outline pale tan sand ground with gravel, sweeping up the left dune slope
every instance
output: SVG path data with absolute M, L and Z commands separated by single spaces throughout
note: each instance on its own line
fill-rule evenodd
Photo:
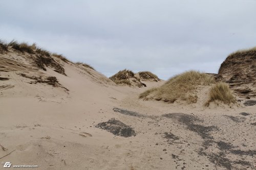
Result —
M 0 162 L 36 169 L 255 169 L 255 98 L 231 108 L 143 101 L 141 92 L 164 81 L 117 86 L 91 68 L 56 58 L 65 76 L 28 58 L 0 54 Z M 207 97 L 207 90 L 200 93 Z

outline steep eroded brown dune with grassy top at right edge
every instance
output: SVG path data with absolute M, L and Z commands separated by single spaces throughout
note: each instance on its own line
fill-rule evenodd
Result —
M 256 47 L 230 54 L 221 64 L 217 78 L 244 98 L 256 96 Z

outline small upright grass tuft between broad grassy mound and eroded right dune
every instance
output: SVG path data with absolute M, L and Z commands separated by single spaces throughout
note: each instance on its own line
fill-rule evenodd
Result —
M 205 105 L 208 106 L 210 102 L 214 101 L 221 101 L 224 104 L 229 105 L 231 103 L 236 103 L 236 98 L 229 90 L 228 85 L 221 82 L 210 88 L 209 100 Z

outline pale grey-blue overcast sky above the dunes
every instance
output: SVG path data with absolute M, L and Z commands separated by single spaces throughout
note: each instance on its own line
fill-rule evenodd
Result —
M 106 76 L 124 68 L 162 79 L 217 72 L 256 45 L 256 0 L 0 0 L 0 38 L 36 42 Z

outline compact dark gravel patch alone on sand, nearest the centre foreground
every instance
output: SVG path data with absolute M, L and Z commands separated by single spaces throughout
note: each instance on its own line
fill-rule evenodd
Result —
M 131 137 L 136 136 L 135 131 L 130 126 L 125 125 L 115 118 L 109 119 L 108 122 L 102 122 L 95 126 L 104 129 L 116 136 Z

